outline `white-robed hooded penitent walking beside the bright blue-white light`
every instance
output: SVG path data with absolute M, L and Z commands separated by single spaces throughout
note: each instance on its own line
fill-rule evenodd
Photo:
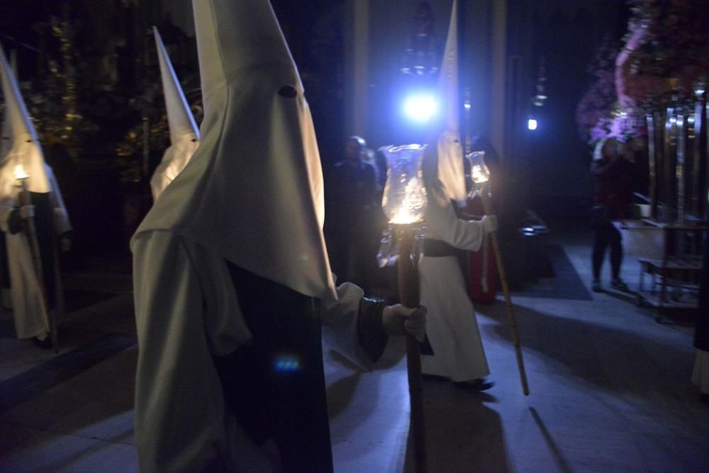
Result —
M 473 304 L 454 252 L 454 249 L 477 251 L 484 236 L 479 221 L 457 218 L 452 205 L 452 200 L 461 203 L 465 198 L 463 149 L 457 120 L 456 21 L 454 1 L 439 81 L 444 99 L 444 129 L 437 146 L 429 146 L 425 151 L 423 164 L 428 206 L 424 217 L 426 241 L 418 269 L 421 304 L 428 308 L 426 333 L 434 352 L 422 355 L 423 373 L 462 382 L 486 376 L 489 368 Z M 434 251 L 430 240 L 443 244 L 438 243 Z

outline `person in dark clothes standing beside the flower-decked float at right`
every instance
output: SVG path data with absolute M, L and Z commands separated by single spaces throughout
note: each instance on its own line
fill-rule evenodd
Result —
M 633 159 L 618 138 L 603 138 L 596 145 L 591 162 L 591 174 L 595 179 L 591 226 L 596 235 L 593 239 L 593 284 L 594 292 L 601 292 L 601 267 L 605 248 L 610 245 L 610 286 L 627 291 L 620 279 L 623 263 L 623 247 L 620 232 L 613 220 L 627 218 L 627 206 L 632 192 Z

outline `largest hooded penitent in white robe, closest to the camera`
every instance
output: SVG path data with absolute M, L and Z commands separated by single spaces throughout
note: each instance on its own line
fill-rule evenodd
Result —
M 267 0 L 193 8 L 201 144 L 131 241 L 140 469 L 328 471 L 320 323 L 352 360 L 371 352 L 361 289 L 330 274 L 308 104 Z

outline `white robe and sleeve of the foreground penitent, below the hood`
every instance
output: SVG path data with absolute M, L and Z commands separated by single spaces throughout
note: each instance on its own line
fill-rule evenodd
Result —
M 213 365 L 213 356 L 228 355 L 251 338 L 225 259 L 170 230 L 140 233 L 132 249 L 140 470 L 199 471 L 220 457 L 236 471 L 254 471 L 255 465 L 277 471 L 277 455 L 253 444 L 226 411 Z M 323 339 L 369 367 L 357 338 L 362 289 L 345 283 L 337 295 L 322 304 Z

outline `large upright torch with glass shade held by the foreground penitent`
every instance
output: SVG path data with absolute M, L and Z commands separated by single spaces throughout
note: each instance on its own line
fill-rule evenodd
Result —
M 421 162 L 425 146 L 403 145 L 384 148 L 386 184 L 381 206 L 389 223 L 395 228 L 398 241 L 398 290 L 401 304 L 419 306 L 418 267 L 413 254 L 416 229 L 423 223 L 426 210 L 426 189 Z M 421 398 L 421 354 L 418 340 L 406 335 L 406 367 L 411 399 L 411 431 L 417 471 L 425 471 L 425 430 L 423 399 Z

